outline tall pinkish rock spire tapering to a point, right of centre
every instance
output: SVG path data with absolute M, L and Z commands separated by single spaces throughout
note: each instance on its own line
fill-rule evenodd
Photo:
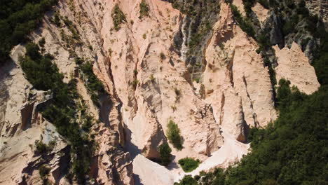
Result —
M 214 25 L 203 74 L 206 101 L 221 128 L 245 142 L 248 126 L 265 126 L 275 119 L 273 90 L 257 43 L 233 23 L 228 5 Z

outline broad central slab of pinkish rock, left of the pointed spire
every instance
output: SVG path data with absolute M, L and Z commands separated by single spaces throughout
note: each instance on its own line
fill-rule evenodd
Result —
M 128 21 L 118 32 L 110 32 L 110 39 L 104 39 L 104 48 L 112 50 L 111 71 L 123 103 L 124 122 L 132 142 L 146 157 L 158 158 L 157 147 L 165 140 L 166 125 L 172 119 L 182 130 L 182 153 L 203 158 L 219 149 L 222 140 L 212 112 L 206 110 L 205 103 L 194 95 L 183 77 L 184 62 L 170 51 L 172 36 L 179 29 L 177 18 L 181 16 L 168 2 L 146 2 L 150 16 L 139 19 L 140 1 L 120 1 L 127 20 L 134 23 Z M 110 11 L 113 6 L 109 5 Z M 108 29 L 112 27 L 111 19 L 106 25 Z M 160 58 L 160 53 L 165 59 Z M 178 98 L 176 88 L 181 91 Z

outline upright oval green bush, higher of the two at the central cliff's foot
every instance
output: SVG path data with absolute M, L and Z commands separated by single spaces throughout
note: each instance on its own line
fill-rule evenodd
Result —
M 172 120 L 168 123 L 168 130 L 166 130 L 169 141 L 175 146 L 176 149 L 182 150 L 182 137 L 180 136 L 180 129 L 178 125 Z

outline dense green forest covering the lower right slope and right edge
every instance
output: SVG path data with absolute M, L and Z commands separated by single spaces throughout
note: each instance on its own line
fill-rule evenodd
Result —
M 299 4 L 294 4 L 293 1 L 279 4 L 274 0 L 269 2 L 274 9 L 280 6 L 280 11 L 283 4 L 298 9 L 298 21 L 303 19 L 302 21 L 308 22 L 313 19 L 304 9 L 303 1 Z M 287 16 L 286 20 L 294 21 L 291 17 Z M 315 39 L 320 39 L 320 47 L 313 51 L 315 58 L 312 63 L 321 84 L 320 89 L 313 95 L 305 95 L 297 88 L 290 87 L 289 81 L 279 81 L 276 107 L 280 115 L 266 128 L 250 130 L 248 139 L 252 151 L 240 163 L 228 167 L 227 170 L 217 168 L 212 172 L 201 172 L 195 177 L 186 176 L 179 184 L 328 184 L 328 34 L 322 29 L 320 21 L 314 20 L 313 24 L 306 23 L 306 29 Z M 293 23 L 290 26 L 292 30 L 285 26 L 284 34 L 299 32 L 294 25 Z M 268 38 L 265 34 L 262 37 Z M 259 41 L 258 37 L 256 39 Z

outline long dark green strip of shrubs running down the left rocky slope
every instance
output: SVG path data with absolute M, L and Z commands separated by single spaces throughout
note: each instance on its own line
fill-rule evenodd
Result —
M 64 83 L 64 75 L 52 62 L 53 56 L 41 55 L 35 43 L 28 43 L 26 49 L 25 57 L 20 57 L 20 64 L 27 80 L 37 90 L 51 90 L 53 93 L 53 99 L 42 108 L 41 113 L 68 140 L 70 151 L 74 153 L 71 155 L 71 170 L 67 172 L 67 178 L 74 174 L 78 183 L 83 184 L 95 151 L 95 142 L 87 132 L 93 119 L 88 116 L 86 104 L 77 93 L 77 80 L 72 78 L 69 83 Z M 80 125 L 83 125 L 82 130 Z M 44 148 L 42 146 L 41 151 Z

